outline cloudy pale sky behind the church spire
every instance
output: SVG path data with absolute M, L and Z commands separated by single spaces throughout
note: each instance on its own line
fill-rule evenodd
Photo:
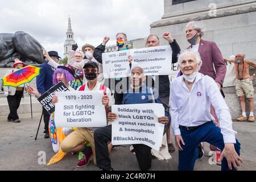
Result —
M 48 51 L 63 56 L 68 15 L 74 39 L 98 46 L 104 36 L 115 44 L 115 33 L 126 32 L 128 39 L 150 34 L 150 23 L 164 14 L 163 0 L 0 0 L 0 33 L 25 31 Z

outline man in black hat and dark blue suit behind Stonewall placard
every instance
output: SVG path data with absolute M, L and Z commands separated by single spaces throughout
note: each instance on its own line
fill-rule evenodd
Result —
M 59 59 L 61 57 L 58 55 L 56 51 L 49 51 L 48 55 L 56 64 L 59 63 Z M 38 92 L 40 94 L 43 94 L 53 86 L 52 75 L 55 69 L 51 67 L 49 64 L 47 64 L 48 61 L 40 65 L 42 69 L 40 71 L 40 75 L 36 77 L 36 88 L 38 89 Z M 44 138 L 49 138 L 48 123 L 49 123 L 50 115 L 47 112 L 47 110 L 44 109 L 44 107 L 43 107 L 43 115 L 44 115 L 44 133 L 45 133 Z

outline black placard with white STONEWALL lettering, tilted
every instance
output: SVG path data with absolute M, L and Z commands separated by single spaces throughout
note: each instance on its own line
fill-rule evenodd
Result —
M 44 109 L 48 111 L 49 114 L 52 114 L 55 111 L 55 105 L 52 104 L 52 98 L 56 92 L 65 92 L 69 91 L 68 87 L 64 84 L 63 81 L 57 83 L 52 86 L 49 90 L 47 90 L 42 96 L 38 98 L 38 101 Z

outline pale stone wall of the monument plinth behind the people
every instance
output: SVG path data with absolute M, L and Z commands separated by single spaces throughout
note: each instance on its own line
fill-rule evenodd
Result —
M 210 10 L 215 5 L 216 16 L 212 16 Z M 178 5 L 172 5 L 172 0 L 164 0 L 164 15 L 151 24 L 150 32 L 159 36 L 161 45 L 167 45 L 162 34 L 169 31 L 180 48 L 185 49 L 189 46 L 185 25 L 191 20 L 204 24 L 203 39 L 216 42 L 224 57 L 245 52 L 246 59 L 256 61 L 256 0 L 197 0 Z M 254 69 L 250 70 L 251 74 L 253 72 Z M 254 90 L 255 83 L 254 78 Z M 224 88 L 224 92 L 232 117 L 236 118 L 241 113 L 236 89 L 232 86 Z

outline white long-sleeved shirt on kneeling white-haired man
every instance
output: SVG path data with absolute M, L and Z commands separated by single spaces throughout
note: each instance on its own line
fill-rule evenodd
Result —
M 230 111 L 213 78 L 197 73 L 191 92 L 185 85 L 183 76 L 171 82 L 170 104 L 172 130 L 180 135 L 179 125 L 199 126 L 214 118 L 210 114 L 213 105 L 220 121 L 224 143 L 236 143 L 236 131 L 232 129 Z

